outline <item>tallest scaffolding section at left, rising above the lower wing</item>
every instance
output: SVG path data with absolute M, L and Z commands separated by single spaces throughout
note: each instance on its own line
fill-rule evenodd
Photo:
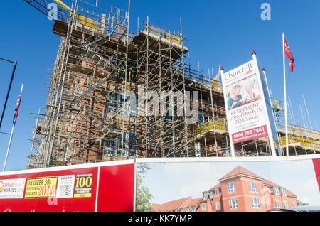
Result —
M 126 107 L 127 92 L 137 95 L 139 88 L 144 97 L 150 90 L 186 94 L 188 48 L 182 34 L 157 28 L 149 19 L 137 35 L 130 33 L 129 11 L 104 1 L 73 1 L 69 11 L 53 27 L 61 38 L 38 122 L 41 138 L 33 137 L 33 167 L 188 156 L 193 139 L 186 115 L 137 114 L 147 99 L 136 111 Z

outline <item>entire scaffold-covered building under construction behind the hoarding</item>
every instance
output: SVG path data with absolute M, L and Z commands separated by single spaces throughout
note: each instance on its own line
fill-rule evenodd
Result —
M 25 1 L 48 13 L 43 1 Z M 166 31 L 146 18 L 142 29 L 132 33 L 129 8 L 100 0 L 74 0 L 70 7 L 56 2 L 60 6 L 53 33 L 60 36 L 60 45 L 46 108 L 36 120 L 28 168 L 138 157 L 230 156 L 219 74 L 191 68 L 182 31 Z M 161 111 L 150 99 L 163 91 L 183 94 L 174 104 L 166 97 L 156 100 L 174 114 L 146 114 Z M 198 93 L 193 123 L 186 114 L 192 107 L 187 93 Z M 144 98 L 133 102 L 129 94 Z M 137 107 L 128 108 L 129 103 Z M 281 104 L 274 103 L 283 147 Z M 179 106 L 182 114 L 177 114 Z M 291 124 L 289 154 L 319 153 L 319 131 Z M 271 156 L 264 138 L 236 144 L 235 150 L 236 156 Z

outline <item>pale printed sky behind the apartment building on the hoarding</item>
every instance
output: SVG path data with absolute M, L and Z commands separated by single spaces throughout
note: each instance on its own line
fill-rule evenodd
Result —
M 148 163 L 151 167 L 144 185 L 161 204 L 179 198 L 201 198 L 202 192 L 219 183 L 218 179 L 242 166 L 252 173 L 283 186 L 310 205 L 320 205 L 314 165 L 303 161 Z

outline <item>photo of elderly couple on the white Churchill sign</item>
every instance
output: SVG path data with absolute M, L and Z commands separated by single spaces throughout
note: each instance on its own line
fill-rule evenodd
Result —
M 261 99 L 256 75 L 226 87 L 226 91 L 229 110 Z

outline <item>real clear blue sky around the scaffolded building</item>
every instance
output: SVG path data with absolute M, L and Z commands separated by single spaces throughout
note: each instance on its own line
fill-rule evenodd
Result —
M 91 0 L 88 0 L 91 1 Z M 107 0 L 105 0 L 107 1 Z M 71 0 L 65 0 L 70 5 Z M 110 0 L 109 4 L 128 8 L 128 1 Z M 262 21 L 262 3 L 271 6 L 271 21 Z M 39 107 L 46 106 L 49 82 L 45 75 L 53 68 L 59 37 L 52 33 L 53 21 L 22 0 L 1 1 L 0 58 L 17 60 L 18 66 L 0 131 L 10 133 L 14 106 L 21 83 L 23 89 L 21 111 L 16 123 L 7 170 L 26 167 L 34 124 Z M 257 53 L 260 66 L 267 70 L 272 95 L 284 99 L 282 75 L 282 31 L 294 55 L 296 70 L 291 74 L 287 66 L 287 93 L 292 99 L 294 116 L 301 122 L 299 102 L 306 97 L 312 123 L 320 124 L 319 50 L 320 1 L 292 0 L 216 0 L 216 1 L 131 1 L 130 30 L 137 32 L 149 16 L 156 26 L 187 35 L 191 65 L 198 62 L 204 72 L 221 64 L 225 71 L 251 60 L 251 50 Z M 142 28 L 142 26 L 140 27 Z M 4 104 L 12 65 L 0 60 L 0 107 Z M 319 129 L 319 128 L 317 128 Z M 0 163 L 4 163 L 9 136 L 0 134 Z

